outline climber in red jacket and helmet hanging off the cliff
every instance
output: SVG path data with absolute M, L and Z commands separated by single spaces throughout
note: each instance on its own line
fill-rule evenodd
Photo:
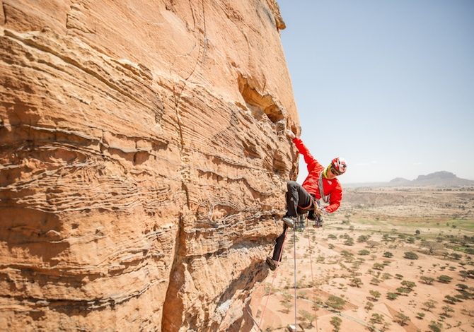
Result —
M 283 218 L 283 232 L 277 237 L 277 243 L 273 249 L 273 256 L 267 257 L 267 264 L 274 271 L 279 261 L 282 260 L 282 246 L 287 236 L 288 227 L 294 227 L 298 215 L 308 213 L 308 219 L 315 220 L 315 225 L 320 221 L 324 213 L 333 213 L 339 208 L 342 200 L 342 186 L 337 176 L 346 171 L 347 164 L 342 158 L 334 158 L 328 167 L 320 165 L 300 138 L 292 131 L 287 130 L 287 136 L 291 138 L 299 153 L 303 155 L 308 167 L 308 177 L 303 185 L 294 181 L 287 182 L 287 214 Z M 320 201 L 329 204 L 321 207 Z

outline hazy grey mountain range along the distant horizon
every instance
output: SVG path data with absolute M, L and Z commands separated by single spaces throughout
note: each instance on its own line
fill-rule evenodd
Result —
M 414 180 L 404 179 L 403 177 L 395 177 L 389 182 L 371 182 L 359 184 L 344 184 L 346 188 L 354 188 L 361 186 L 474 186 L 473 180 L 461 179 L 456 174 L 446 171 L 434 172 L 427 175 L 419 175 Z

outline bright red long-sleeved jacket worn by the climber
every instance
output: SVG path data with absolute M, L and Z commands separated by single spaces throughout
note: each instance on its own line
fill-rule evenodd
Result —
M 311 153 L 309 152 L 308 148 L 304 145 L 301 139 L 295 137 L 293 139 L 293 143 L 298 149 L 299 153 L 303 155 L 304 161 L 308 167 L 308 177 L 303 182 L 303 188 L 308 191 L 309 194 L 316 196 L 317 199 L 321 198 L 321 194 L 319 192 L 319 176 L 321 172 L 323 172 L 324 168 L 318 160 L 316 160 Z M 323 189 L 324 194 L 330 195 L 329 198 L 329 206 L 325 207 L 325 211 L 329 213 L 333 213 L 334 211 L 339 208 L 341 201 L 342 201 L 342 186 L 339 183 L 337 178 L 334 179 L 326 179 L 323 177 Z

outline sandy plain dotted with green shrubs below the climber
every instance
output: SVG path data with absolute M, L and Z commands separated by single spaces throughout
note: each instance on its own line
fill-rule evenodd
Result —
M 333 317 L 339 331 L 474 331 L 474 189 L 348 189 L 342 204 L 323 227 L 288 233 L 250 302 L 253 331 L 295 324 L 295 271 L 297 331 L 337 331 Z

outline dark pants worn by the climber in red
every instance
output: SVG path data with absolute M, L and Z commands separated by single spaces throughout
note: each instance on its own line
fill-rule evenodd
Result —
M 308 191 L 306 191 L 301 184 L 294 181 L 287 182 L 287 214 L 285 217 L 297 217 L 298 214 L 306 213 L 308 210 L 302 210 L 298 206 L 312 208 L 313 199 Z M 283 224 L 283 232 L 277 237 L 277 243 L 273 249 L 274 261 L 282 260 L 282 247 L 284 238 L 287 235 L 288 226 Z

